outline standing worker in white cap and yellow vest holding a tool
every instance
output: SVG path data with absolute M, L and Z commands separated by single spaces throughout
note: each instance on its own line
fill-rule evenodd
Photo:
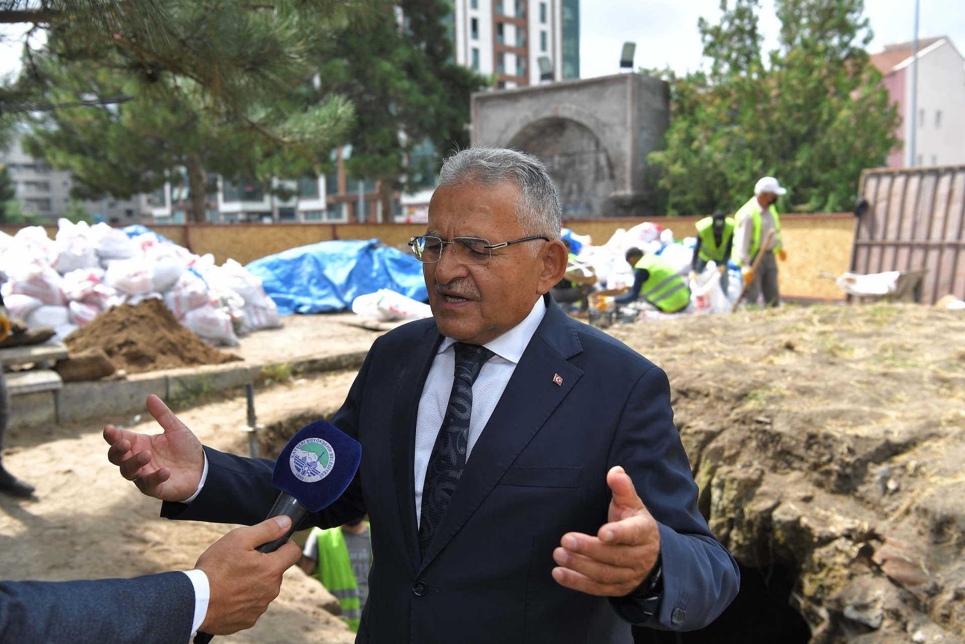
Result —
M 773 177 L 764 177 L 754 186 L 754 197 L 744 204 L 734 215 L 733 251 L 737 264 L 741 266 L 741 274 L 748 285 L 745 301 L 757 304 L 762 293 L 765 306 L 777 306 L 780 303 L 778 289 L 778 265 L 775 256 L 784 262 L 787 253 L 781 239 L 781 218 L 774 202 L 778 196 L 786 194 L 786 188 Z M 774 231 L 774 237 L 767 248 L 760 248 L 763 239 L 769 231 Z M 764 253 L 758 270 L 751 266 L 758 252 Z

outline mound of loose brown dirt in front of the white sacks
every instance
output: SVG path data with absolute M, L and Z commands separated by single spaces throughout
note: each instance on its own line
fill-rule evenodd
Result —
M 70 353 L 99 347 L 128 374 L 241 359 L 207 345 L 159 299 L 115 307 L 81 326 L 65 342 Z

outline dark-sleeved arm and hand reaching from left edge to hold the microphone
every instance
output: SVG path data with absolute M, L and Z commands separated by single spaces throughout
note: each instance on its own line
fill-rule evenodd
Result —
M 289 543 L 255 550 L 288 532 L 289 518 L 237 528 L 208 547 L 194 570 L 96 581 L 0 581 L 0 642 L 187 644 L 193 631 L 250 629 L 278 597 L 298 559 Z

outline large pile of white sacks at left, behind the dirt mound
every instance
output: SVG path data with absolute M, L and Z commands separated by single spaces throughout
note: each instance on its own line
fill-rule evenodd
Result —
M 121 304 L 163 299 L 175 317 L 212 345 L 280 326 L 262 280 L 234 260 L 214 266 L 152 232 L 128 237 L 99 223 L 58 221 L 54 239 L 41 226 L 0 232 L 0 288 L 7 310 L 28 327 L 51 326 L 57 339 Z M 144 229 L 147 231 L 147 229 Z

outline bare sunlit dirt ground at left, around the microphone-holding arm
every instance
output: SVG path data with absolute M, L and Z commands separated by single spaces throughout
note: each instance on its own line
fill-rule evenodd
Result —
M 369 332 L 366 332 L 369 333 Z M 292 417 L 330 415 L 345 400 L 353 372 L 276 384 L 256 394 L 259 422 L 269 430 Z M 207 445 L 247 454 L 244 397 L 185 410 L 180 418 Z M 12 430 L 4 461 L 37 486 L 35 501 L 0 495 L 0 571 L 5 579 L 128 577 L 189 570 L 231 525 L 169 521 L 160 501 L 142 495 L 107 462 L 105 422 L 155 433 L 147 414 L 51 428 Z M 314 579 L 291 569 L 282 594 L 252 630 L 225 642 L 320 644 L 354 641 L 320 606 L 332 600 Z

